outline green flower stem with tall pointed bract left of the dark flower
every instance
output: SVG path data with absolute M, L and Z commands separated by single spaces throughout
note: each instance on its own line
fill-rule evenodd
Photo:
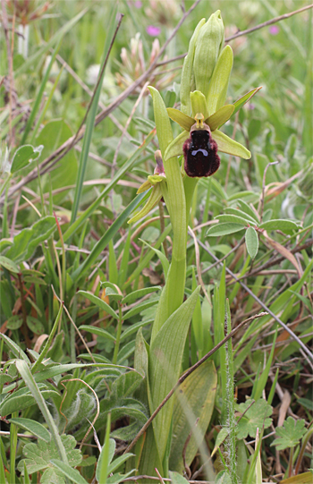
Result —
M 149 88 L 153 99 L 157 138 L 166 174 L 165 203 L 173 227 L 172 263 L 165 288 L 157 305 L 157 316 L 152 328 L 151 342 L 165 321 L 182 304 L 186 276 L 187 217 L 186 200 L 182 183 L 181 167 L 177 157 L 165 160 L 165 149 L 173 141 L 172 126 L 161 95 Z

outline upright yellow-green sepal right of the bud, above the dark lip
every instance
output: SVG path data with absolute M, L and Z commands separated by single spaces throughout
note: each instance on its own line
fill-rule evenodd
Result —
M 213 115 L 220 107 L 224 106 L 232 68 L 233 50 L 232 47 L 226 46 L 217 59 L 216 67 L 208 86 L 208 115 Z

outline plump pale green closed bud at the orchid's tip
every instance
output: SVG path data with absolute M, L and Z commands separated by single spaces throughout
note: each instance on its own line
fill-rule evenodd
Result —
M 196 89 L 207 98 L 208 84 L 224 46 L 224 23 L 219 10 L 213 13 L 199 31 L 193 61 Z

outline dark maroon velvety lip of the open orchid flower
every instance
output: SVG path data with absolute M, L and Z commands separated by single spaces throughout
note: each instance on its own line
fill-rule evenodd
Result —
M 217 143 L 212 139 L 206 123 L 195 123 L 190 129 L 190 138 L 183 143 L 184 169 L 188 176 L 201 178 L 216 173 L 220 166 Z

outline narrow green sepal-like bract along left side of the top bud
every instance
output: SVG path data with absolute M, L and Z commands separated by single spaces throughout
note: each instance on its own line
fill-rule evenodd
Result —
M 193 59 L 195 55 L 196 42 L 201 27 L 206 23 L 206 19 L 201 19 L 197 25 L 188 47 L 188 54 L 182 64 L 182 81 L 181 81 L 181 110 L 184 115 L 190 115 L 190 90 L 192 83 Z M 171 117 L 171 116 L 170 116 Z M 175 121 L 175 120 L 174 120 Z M 188 130 L 189 131 L 189 130 Z

